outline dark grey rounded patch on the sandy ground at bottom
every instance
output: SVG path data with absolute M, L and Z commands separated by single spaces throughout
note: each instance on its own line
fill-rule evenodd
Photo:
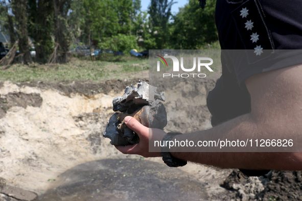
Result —
M 141 159 L 87 162 L 59 175 L 38 200 L 207 200 L 204 185 L 177 168 Z

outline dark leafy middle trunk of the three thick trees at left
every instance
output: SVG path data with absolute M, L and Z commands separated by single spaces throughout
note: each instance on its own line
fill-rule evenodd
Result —
M 41 63 L 54 51 L 53 47 L 53 1 L 28 0 L 29 35 L 34 39 L 36 60 Z

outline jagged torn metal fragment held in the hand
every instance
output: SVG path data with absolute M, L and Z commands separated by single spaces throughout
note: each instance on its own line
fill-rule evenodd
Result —
M 140 141 L 137 134 L 124 123 L 126 116 L 132 116 L 149 128 L 164 129 L 167 125 L 165 106 L 165 92 L 156 92 L 156 87 L 144 81 L 137 83 L 137 87 L 126 87 L 122 96 L 113 98 L 113 114 L 104 131 L 103 136 L 111 139 L 112 145 L 130 145 Z M 160 100 L 160 101 L 158 101 Z

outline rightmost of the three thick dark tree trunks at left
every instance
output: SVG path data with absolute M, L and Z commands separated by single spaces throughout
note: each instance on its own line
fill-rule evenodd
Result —
M 72 0 L 53 0 L 54 6 L 54 36 L 58 45 L 56 60 L 59 63 L 68 62 L 68 48 L 72 42 L 71 31 L 67 24 L 67 13 Z

